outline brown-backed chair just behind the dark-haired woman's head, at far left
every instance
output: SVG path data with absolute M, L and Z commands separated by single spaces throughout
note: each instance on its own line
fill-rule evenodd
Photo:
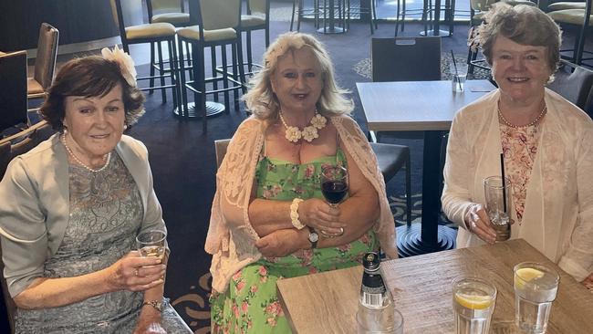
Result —
M 47 89 L 54 80 L 59 32 L 53 26 L 42 23 L 39 28 L 35 73 L 26 80 L 27 99 L 44 99 Z M 36 110 L 36 109 L 31 109 Z

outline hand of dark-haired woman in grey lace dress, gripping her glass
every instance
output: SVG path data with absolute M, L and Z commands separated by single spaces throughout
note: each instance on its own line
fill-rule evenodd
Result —
M 166 266 L 161 258 L 131 251 L 107 268 L 107 285 L 113 291 L 144 291 L 162 284 Z

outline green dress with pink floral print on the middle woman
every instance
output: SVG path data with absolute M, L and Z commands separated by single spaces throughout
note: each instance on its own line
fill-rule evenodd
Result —
M 261 157 L 255 178 L 257 197 L 292 201 L 294 198 L 323 198 L 321 168 L 327 164 L 346 165 L 344 152 L 304 164 Z M 365 252 L 378 251 L 379 241 L 369 230 L 359 240 L 346 245 L 300 250 L 289 256 L 261 258 L 245 266 L 231 278 L 223 294 L 210 297 L 213 333 L 291 333 L 276 296 L 276 281 L 349 266 L 356 266 Z

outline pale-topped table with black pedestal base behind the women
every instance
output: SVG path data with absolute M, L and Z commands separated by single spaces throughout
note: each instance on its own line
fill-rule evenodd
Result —
M 371 131 L 424 131 L 422 154 L 422 224 L 398 227 L 401 256 L 452 249 L 455 233 L 439 226 L 441 141 L 457 110 L 494 89 L 488 80 L 467 80 L 453 93 L 450 80 L 357 82 Z

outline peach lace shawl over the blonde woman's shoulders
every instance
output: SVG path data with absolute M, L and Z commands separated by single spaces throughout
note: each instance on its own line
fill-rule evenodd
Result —
M 346 151 L 379 193 L 380 218 L 373 228 L 383 252 L 390 258 L 396 258 L 395 225 L 377 158 L 354 120 L 346 116 L 330 120 L 338 130 Z M 234 133 L 216 173 L 216 193 L 205 250 L 213 255 L 210 267 L 213 290 L 221 293 L 228 287 L 234 273 L 261 257 L 255 247 L 259 236 L 249 222 L 248 206 L 255 167 L 264 144 L 263 130 L 262 120 L 254 117 L 244 120 Z

